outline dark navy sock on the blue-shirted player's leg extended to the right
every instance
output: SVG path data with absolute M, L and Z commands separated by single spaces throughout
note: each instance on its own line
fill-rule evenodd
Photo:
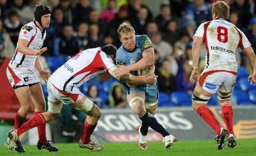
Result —
M 162 134 L 163 137 L 170 135 L 152 114 L 146 112 L 146 114 L 142 116 L 140 120 L 142 121 L 142 124 L 145 123 L 145 125 L 148 127 L 151 127 L 152 129 L 156 130 L 156 132 Z M 141 132 L 141 134 L 143 133 Z

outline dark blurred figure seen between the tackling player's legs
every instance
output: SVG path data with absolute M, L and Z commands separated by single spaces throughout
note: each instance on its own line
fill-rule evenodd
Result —
M 83 136 L 85 118 L 84 113 L 64 104 L 60 116 L 48 122 L 51 127 L 52 141 L 62 143 L 62 136 L 74 133 L 74 136 L 70 137 L 71 139 L 68 142 L 77 143 L 77 140 Z

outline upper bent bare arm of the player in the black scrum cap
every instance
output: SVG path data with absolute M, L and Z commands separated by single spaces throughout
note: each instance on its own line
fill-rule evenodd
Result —
M 47 51 L 47 47 L 44 47 L 38 51 L 33 51 L 32 49 L 29 49 L 28 43 L 29 43 L 28 40 L 19 39 L 18 51 L 26 55 L 40 55 L 43 52 Z

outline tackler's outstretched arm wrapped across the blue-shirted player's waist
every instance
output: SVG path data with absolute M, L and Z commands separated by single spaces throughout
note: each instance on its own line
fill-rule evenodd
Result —
M 131 84 L 155 84 L 156 83 L 156 75 L 140 75 L 140 76 L 135 76 L 132 75 L 131 73 L 125 74 L 122 77 L 118 77 L 115 75 L 115 69 L 117 67 L 113 66 L 112 68 L 109 68 L 108 72 L 109 74 L 113 75 L 118 81 L 121 82 L 126 82 L 126 83 L 131 83 Z

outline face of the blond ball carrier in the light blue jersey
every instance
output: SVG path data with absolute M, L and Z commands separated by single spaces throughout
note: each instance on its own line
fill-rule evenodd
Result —
M 135 48 L 135 35 L 134 33 L 129 32 L 120 36 L 120 41 L 123 43 L 124 48 L 127 51 L 132 51 Z

